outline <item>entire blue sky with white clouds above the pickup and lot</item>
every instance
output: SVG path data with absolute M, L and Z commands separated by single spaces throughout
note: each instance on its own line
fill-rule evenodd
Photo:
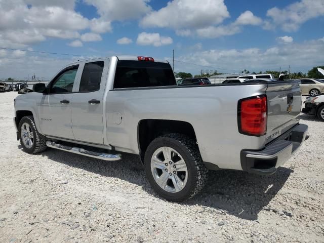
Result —
M 322 0 L 52 2 L 0 1 L 0 47 L 170 61 L 174 49 L 176 60 L 196 64 L 176 61 L 175 71 L 193 74 L 200 69 L 283 70 L 289 65 L 304 72 L 324 65 Z M 0 78 L 23 78 L 29 72 L 50 78 L 80 58 L 0 49 Z

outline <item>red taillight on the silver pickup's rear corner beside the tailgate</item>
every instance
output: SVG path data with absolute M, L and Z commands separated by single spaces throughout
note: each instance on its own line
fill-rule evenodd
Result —
M 263 136 L 267 132 L 267 97 L 254 96 L 238 101 L 238 131 L 250 136 Z

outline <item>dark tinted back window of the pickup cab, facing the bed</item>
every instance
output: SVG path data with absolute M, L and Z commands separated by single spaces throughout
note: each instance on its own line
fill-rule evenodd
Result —
M 117 62 L 114 89 L 176 85 L 169 63 L 127 60 Z

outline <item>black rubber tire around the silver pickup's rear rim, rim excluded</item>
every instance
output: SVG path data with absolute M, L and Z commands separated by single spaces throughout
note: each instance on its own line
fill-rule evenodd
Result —
M 161 188 L 154 180 L 151 171 L 153 153 L 161 147 L 171 147 L 178 151 L 186 163 L 188 179 L 186 185 L 179 192 L 168 192 Z M 146 176 L 154 191 L 170 201 L 184 201 L 196 195 L 207 182 L 208 170 L 201 159 L 196 141 L 182 134 L 171 133 L 154 139 L 145 152 L 144 157 Z

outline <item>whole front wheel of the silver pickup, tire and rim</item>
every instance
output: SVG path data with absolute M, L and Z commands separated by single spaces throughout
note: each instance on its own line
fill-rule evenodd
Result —
M 43 152 L 46 146 L 46 138 L 39 134 L 32 115 L 24 116 L 19 122 L 20 144 L 27 153 Z

